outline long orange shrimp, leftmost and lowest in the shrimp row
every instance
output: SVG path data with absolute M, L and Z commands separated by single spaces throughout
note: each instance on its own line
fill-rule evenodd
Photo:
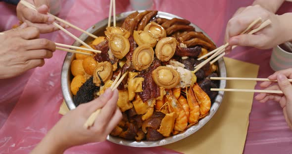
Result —
M 184 131 L 188 125 L 187 115 L 178 100 L 173 96 L 171 90 L 166 92 L 166 100 L 169 102 L 170 109 L 176 113 L 174 130 Z

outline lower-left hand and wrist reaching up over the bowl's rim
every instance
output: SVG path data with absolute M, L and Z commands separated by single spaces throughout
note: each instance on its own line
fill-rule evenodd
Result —
M 111 91 L 111 88 L 108 88 L 99 98 L 68 112 L 49 131 L 34 153 L 62 154 L 73 146 L 105 141 L 107 135 L 122 119 L 117 100 L 118 90 Z M 88 117 L 100 108 L 94 125 L 88 129 L 84 128 Z

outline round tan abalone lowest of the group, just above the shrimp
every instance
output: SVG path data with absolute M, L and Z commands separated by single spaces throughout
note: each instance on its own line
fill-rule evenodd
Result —
M 176 87 L 180 82 L 180 74 L 169 67 L 159 66 L 152 72 L 154 82 L 165 89 Z

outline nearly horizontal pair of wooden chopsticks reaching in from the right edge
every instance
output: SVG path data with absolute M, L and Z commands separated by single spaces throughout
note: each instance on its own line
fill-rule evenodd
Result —
M 270 80 L 268 78 L 242 78 L 242 77 L 210 77 L 212 80 L 248 80 L 248 81 L 270 81 L 277 82 L 277 80 Z M 292 79 L 289 79 L 292 82 Z M 237 91 L 237 92 L 260 92 L 260 93 L 274 93 L 283 94 L 281 90 L 256 90 L 256 89 L 222 89 L 211 88 L 211 91 Z

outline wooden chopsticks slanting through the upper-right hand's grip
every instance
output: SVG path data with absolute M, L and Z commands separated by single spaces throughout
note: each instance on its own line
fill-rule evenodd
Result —
M 269 24 L 271 24 L 271 20 L 266 20 L 265 22 L 263 22 L 258 28 L 251 30 L 251 28 L 256 25 L 257 23 L 261 22 L 261 18 L 258 18 L 256 20 L 254 20 L 251 24 L 249 24 L 249 26 L 240 34 L 254 34 L 258 31 L 260 31 L 261 29 L 265 28 L 266 26 L 268 26 Z M 251 31 L 250 31 L 251 30 Z M 248 32 L 248 33 L 247 33 Z M 198 58 L 197 60 L 201 60 L 211 54 L 208 59 L 204 60 L 202 63 L 200 63 L 199 65 L 195 66 L 195 71 L 193 71 L 194 73 L 197 72 L 199 69 L 201 69 L 205 64 L 209 63 L 213 58 L 215 58 L 214 60 L 212 60 L 210 63 L 213 64 L 215 63 L 218 59 L 222 58 L 225 55 L 225 48 L 229 45 L 229 43 L 226 43 L 218 48 L 216 48 L 215 50 L 209 52 L 208 54 Z M 232 49 L 234 49 L 237 46 L 233 46 Z

